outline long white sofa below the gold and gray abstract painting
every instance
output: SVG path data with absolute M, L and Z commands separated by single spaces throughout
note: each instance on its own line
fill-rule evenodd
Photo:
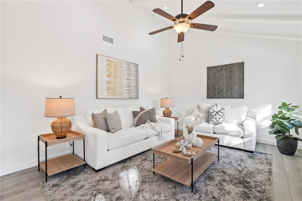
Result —
M 92 113 L 101 113 L 104 109 L 107 109 L 108 113 L 117 111 L 122 122 L 122 129 L 111 133 L 92 126 Z M 141 126 L 134 127 L 132 111 L 140 111 L 140 108 L 101 108 L 87 110 L 84 116 L 72 117 L 72 129 L 86 135 L 85 159 L 95 171 L 100 171 L 110 164 L 174 139 L 174 119 L 156 116 L 163 125 L 162 140 L 158 138 L 155 130 L 145 131 Z M 75 155 L 83 158 L 82 142 L 75 141 L 74 143 Z

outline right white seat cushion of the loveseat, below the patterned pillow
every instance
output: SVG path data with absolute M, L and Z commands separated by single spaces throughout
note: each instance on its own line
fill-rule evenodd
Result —
M 216 134 L 233 136 L 233 137 L 243 137 L 243 126 L 236 123 L 221 123 L 213 127 L 213 131 Z

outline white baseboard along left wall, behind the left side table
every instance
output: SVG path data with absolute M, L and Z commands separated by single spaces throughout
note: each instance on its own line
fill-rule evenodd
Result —
M 49 155 L 49 156 L 47 156 L 47 159 L 56 158 L 58 156 L 63 156 L 63 155 L 70 154 L 70 153 L 72 153 L 72 152 L 63 152 L 63 153 L 59 153 L 59 154 Z M 40 157 L 40 161 L 45 161 L 45 157 Z M 38 165 L 38 158 L 35 159 L 35 160 L 26 161 L 26 162 L 23 162 L 23 163 L 18 163 L 18 164 L 15 164 L 15 165 L 11 165 L 11 166 L 2 168 L 0 170 L 0 175 L 3 176 L 5 174 L 10 174 L 10 173 L 17 172 L 17 171 L 20 171 L 20 170 L 24 170 L 24 169 L 27 169 L 27 168 L 31 168 L 31 167 L 34 167 L 34 166 L 37 166 L 37 165 Z M 37 171 L 38 171 L 38 169 L 37 169 Z

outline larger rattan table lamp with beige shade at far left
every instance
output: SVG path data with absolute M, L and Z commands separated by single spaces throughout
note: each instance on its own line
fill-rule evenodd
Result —
M 71 121 L 66 116 L 72 115 L 76 115 L 74 98 L 46 98 L 44 116 L 57 117 L 50 125 L 56 139 L 66 138 L 71 128 Z

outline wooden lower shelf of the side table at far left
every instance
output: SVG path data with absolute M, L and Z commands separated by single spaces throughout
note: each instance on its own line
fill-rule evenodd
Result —
M 83 165 L 86 162 L 81 158 L 73 154 L 63 155 L 57 158 L 47 160 L 47 175 L 57 174 L 70 168 L 75 168 L 79 165 Z M 45 161 L 40 162 L 41 168 L 45 171 Z

